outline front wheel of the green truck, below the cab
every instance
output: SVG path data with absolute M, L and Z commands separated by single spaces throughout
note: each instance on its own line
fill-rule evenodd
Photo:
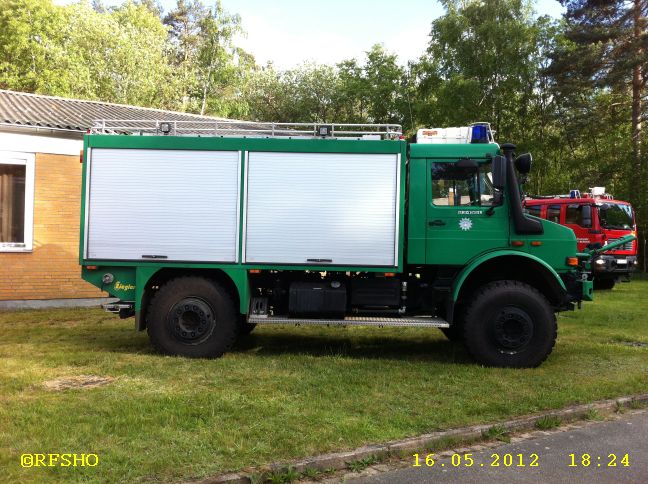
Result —
M 518 281 L 491 282 L 479 289 L 464 323 L 468 351 L 487 366 L 536 367 L 551 353 L 557 332 L 549 301 Z

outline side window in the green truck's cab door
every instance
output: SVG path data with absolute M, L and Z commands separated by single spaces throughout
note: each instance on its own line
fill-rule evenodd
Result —
M 468 169 L 457 168 L 454 163 L 432 163 L 432 202 L 489 207 L 497 200 L 491 180 L 491 163 Z

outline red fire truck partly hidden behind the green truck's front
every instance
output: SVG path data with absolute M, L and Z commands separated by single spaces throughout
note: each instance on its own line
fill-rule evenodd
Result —
M 615 200 L 605 193 L 604 187 L 594 187 L 582 196 L 578 190 L 572 190 L 568 195 L 528 198 L 524 205 L 530 215 L 572 229 L 581 252 L 636 235 L 632 205 Z M 612 289 L 617 281 L 629 280 L 636 265 L 636 240 L 600 254 L 592 261 L 595 287 Z

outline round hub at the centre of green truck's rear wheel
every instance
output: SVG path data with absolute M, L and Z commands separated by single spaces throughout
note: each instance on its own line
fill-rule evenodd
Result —
M 202 299 L 184 298 L 169 311 L 167 325 L 178 341 L 198 344 L 209 338 L 214 330 L 214 311 Z

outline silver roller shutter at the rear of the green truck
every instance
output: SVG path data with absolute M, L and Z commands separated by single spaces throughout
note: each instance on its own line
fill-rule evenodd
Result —
M 240 152 L 93 148 L 87 258 L 235 262 Z

